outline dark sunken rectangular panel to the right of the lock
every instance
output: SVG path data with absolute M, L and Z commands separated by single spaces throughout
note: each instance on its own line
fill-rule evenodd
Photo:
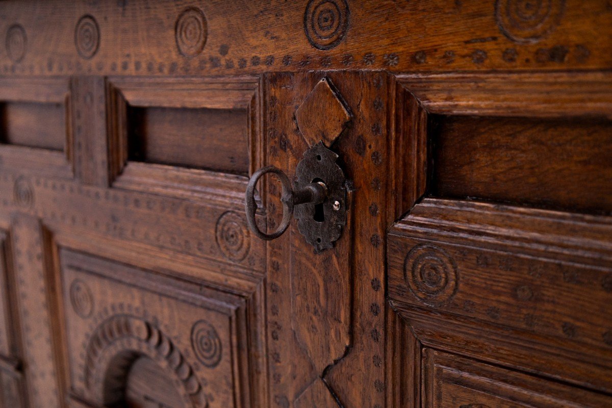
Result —
M 430 193 L 612 211 L 612 124 L 604 119 L 434 116 Z

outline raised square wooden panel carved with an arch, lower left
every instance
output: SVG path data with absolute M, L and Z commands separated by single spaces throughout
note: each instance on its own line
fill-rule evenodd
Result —
M 248 399 L 242 298 L 61 250 L 70 385 L 94 406 Z

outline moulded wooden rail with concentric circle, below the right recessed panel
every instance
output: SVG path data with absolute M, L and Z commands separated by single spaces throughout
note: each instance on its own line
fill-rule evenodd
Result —
M 426 345 L 609 392 L 611 228 L 425 199 L 389 232 L 389 297 Z

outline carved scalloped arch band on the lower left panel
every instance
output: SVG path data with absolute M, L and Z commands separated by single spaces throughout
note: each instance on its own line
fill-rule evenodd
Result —
M 140 317 L 109 317 L 89 336 L 86 350 L 84 380 L 93 401 L 107 404 L 113 401 L 105 401 L 106 395 L 122 395 L 131 363 L 145 355 L 179 386 L 185 407 L 207 406 L 202 385 L 178 347 L 156 325 Z

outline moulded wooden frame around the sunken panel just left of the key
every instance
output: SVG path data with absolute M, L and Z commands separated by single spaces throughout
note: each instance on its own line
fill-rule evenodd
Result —
M 206 78 L 108 78 L 111 141 L 109 158 L 113 187 L 198 195 L 203 170 L 176 169 L 128 161 L 127 105 L 166 108 L 246 109 L 249 172 L 261 167 L 265 149 L 261 137 L 261 84 L 256 76 Z M 193 177 L 192 177 L 193 176 Z M 170 177 L 171 180 L 168 180 Z M 173 183 L 181 178 L 181 187 Z M 214 187 L 212 188 L 214 189 Z

